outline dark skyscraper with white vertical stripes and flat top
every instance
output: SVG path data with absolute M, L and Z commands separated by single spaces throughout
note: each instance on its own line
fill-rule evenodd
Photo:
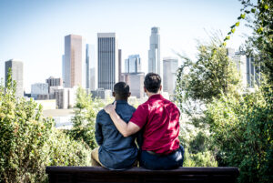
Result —
M 111 89 L 118 80 L 116 33 L 97 33 L 98 87 Z

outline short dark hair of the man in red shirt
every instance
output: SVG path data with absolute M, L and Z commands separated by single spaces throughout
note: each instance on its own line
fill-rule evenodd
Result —
M 144 79 L 144 86 L 148 92 L 157 93 L 161 85 L 161 77 L 156 73 L 148 73 Z

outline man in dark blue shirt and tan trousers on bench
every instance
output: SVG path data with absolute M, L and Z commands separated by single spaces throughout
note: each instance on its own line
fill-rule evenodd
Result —
M 135 107 L 128 105 L 130 88 L 125 82 L 116 83 L 113 97 L 116 100 L 116 113 L 126 123 L 129 122 Z M 136 135 L 123 137 L 116 129 L 111 117 L 104 109 L 96 115 L 96 142 L 100 147 L 91 153 L 92 166 L 103 166 L 109 169 L 131 168 L 136 162 Z

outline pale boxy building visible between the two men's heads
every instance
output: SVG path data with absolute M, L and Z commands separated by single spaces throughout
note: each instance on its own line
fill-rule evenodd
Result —
M 126 82 L 130 86 L 130 92 L 132 97 L 142 98 L 144 97 L 144 78 L 143 72 L 138 73 L 122 73 L 121 81 Z

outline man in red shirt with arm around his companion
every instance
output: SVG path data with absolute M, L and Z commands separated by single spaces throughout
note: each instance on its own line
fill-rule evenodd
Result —
M 182 167 L 184 159 L 184 149 L 178 139 L 180 112 L 175 104 L 160 95 L 161 89 L 160 76 L 148 73 L 144 81 L 148 100 L 137 107 L 129 123 L 116 114 L 116 102 L 104 108 L 124 137 L 143 130 L 139 163 L 149 169 Z

